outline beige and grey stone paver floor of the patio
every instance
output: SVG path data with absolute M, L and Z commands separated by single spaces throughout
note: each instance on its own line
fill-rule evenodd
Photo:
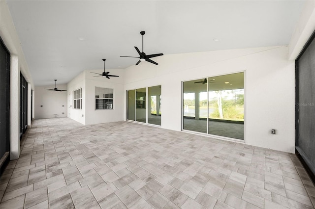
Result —
M 35 120 L 1 176 L 0 208 L 313 208 L 298 158 L 130 122 Z

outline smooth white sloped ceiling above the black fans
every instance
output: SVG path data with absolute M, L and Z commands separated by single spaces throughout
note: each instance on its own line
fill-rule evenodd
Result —
M 303 0 L 7 0 L 35 86 L 86 69 L 134 65 L 144 52 L 287 45 Z M 80 39 L 84 40 L 80 40 Z M 220 41 L 214 41 L 219 39 Z M 154 60 L 154 58 L 153 58 Z M 159 63 L 162 64 L 162 63 Z M 141 63 L 139 64 L 141 65 Z

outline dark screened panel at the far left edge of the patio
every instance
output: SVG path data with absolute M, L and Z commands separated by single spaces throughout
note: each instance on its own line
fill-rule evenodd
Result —
M 0 158 L 10 152 L 10 53 L 0 38 Z M 9 157 L 7 158 L 9 159 Z M 2 166 L 4 167 L 4 166 Z M 1 167 L 1 173 L 3 168 Z

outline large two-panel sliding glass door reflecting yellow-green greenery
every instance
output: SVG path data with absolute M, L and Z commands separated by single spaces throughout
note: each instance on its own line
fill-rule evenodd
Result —
M 183 130 L 244 139 L 244 72 L 183 82 Z

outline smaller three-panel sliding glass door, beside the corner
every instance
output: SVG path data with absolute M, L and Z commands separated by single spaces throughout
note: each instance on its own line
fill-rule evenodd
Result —
M 128 90 L 127 120 L 161 125 L 161 86 Z

